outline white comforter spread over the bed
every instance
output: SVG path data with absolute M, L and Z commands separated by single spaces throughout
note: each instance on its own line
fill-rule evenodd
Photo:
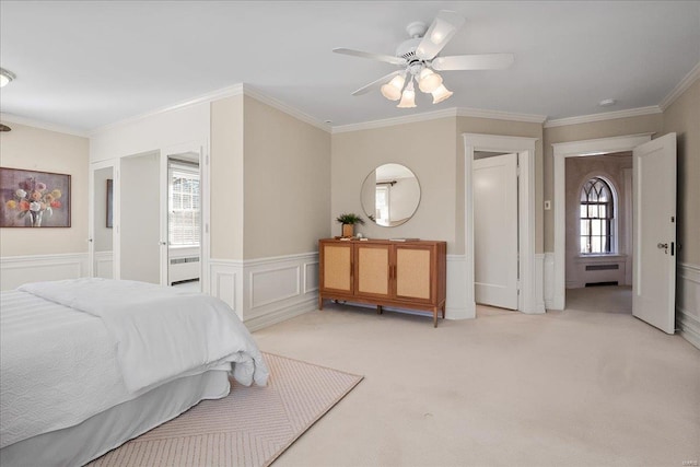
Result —
M 0 447 L 186 374 L 226 369 L 245 385 L 267 382 L 250 334 L 208 295 L 78 279 L 3 292 L 1 305 Z

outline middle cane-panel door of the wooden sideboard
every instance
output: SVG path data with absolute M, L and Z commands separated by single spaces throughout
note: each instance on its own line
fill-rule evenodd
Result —
M 389 295 L 389 245 L 355 244 L 355 294 Z

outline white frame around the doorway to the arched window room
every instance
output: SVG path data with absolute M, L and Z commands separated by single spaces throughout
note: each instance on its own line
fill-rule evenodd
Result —
M 552 283 L 546 284 L 546 287 L 551 287 L 551 293 L 547 291 L 545 294 L 548 297 L 551 296 L 547 303 L 547 308 L 564 310 L 567 305 L 567 157 L 585 157 L 611 152 L 632 151 L 635 147 L 651 141 L 652 135 L 654 135 L 654 132 L 552 143 L 555 160 L 555 194 L 552 199 L 555 203 L 555 265 Z

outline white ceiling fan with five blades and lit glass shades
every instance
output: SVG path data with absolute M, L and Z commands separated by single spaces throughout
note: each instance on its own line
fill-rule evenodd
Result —
M 512 54 L 481 54 L 455 55 L 438 57 L 438 54 L 452 39 L 457 30 L 465 23 L 465 19 L 454 11 L 441 10 L 430 27 L 417 21 L 410 23 L 406 31 L 411 37 L 401 43 L 396 49 L 396 56 L 373 54 L 349 48 L 335 48 L 336 54 L 370 58 L 400 67 L 385 77 L 366 84 L 352 95 L 365 94 L 380 87 L 382 95 L 389 101 L 400 100 L 397 107 L 416 107 L 416 92 L 413 81 L 418 87 L 433 96 L 433 104 L 448 98 L 453 93 L 442 82 L 442 77 L 435 71 L 452 70 L 501 70 L 509 68 L 514 60 Z

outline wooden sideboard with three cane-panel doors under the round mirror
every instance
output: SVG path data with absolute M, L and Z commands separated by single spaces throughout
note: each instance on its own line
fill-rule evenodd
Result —
M 445 242 L 318 241 L 318 310 L 324 300 L 428 311 L 445 318 Z

